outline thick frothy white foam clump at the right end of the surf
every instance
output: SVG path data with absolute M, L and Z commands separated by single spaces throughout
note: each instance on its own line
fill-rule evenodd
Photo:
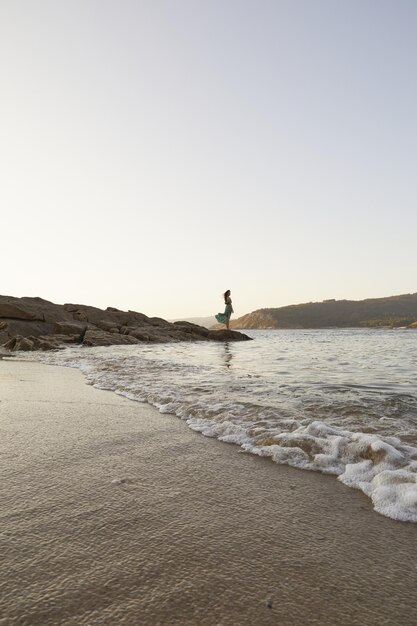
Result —
M 242 447 L 276 463 L 335 474 L 369 496 L 378 513 L 417 522 L 417 449 L 399 439 L 384 440 L 316 421 L 277 435 L 275 444 Z

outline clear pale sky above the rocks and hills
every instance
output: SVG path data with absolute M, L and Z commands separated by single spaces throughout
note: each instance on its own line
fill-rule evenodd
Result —
M 415 0 L 0 0 L 0 293 L 417 291 Z

